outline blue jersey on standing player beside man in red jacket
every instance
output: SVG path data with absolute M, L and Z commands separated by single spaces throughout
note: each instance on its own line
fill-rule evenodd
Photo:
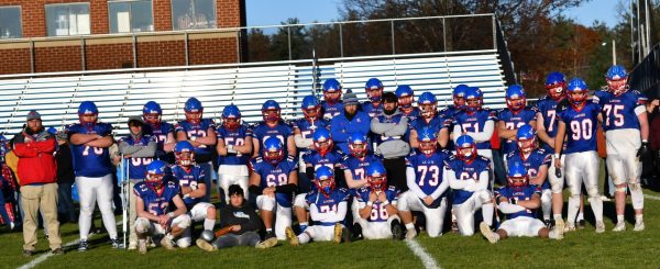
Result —
M 112 134 L 112 126 L 107 123 L 97 123 L 91 128 L 81 124 L 73 124 L 66 128 L 69 137 L 74 134 L 98 134 L 107 136 Z M 74 170 L 76 176 L 98 178 L 112 172 L 112 162 L 107 147 L 90 147 L 85 144 L 72 144 Z

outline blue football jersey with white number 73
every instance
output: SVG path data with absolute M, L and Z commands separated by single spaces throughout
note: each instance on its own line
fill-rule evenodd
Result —
M 406 167 L 415 169 L 415 182 L 425 194 L 433 193 L 444 180 L 442 172 L 449 156 L 451 154 L 447 150 L 438 150 L 431 156 L 413 152 L 406 156 Z M 447 192 L 442 193 L 440 198 L 446 194 Z

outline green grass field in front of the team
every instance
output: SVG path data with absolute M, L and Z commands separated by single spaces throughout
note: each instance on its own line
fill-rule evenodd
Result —
M 481 234 L 462 237 L 451 232 L 439 238 L 422 234 L 417 242 L 442 268 L 474 267 L 598 267 L 598 268 L 660 268 L 660 192 L 645 190 L 646 231 L 632 232 L 631 208 L 628 204 L 628 229 L 613 233 L 612 220 L 616 218 L 614 203 L 605 202 L 607 232 L 596 235 L 593 216 L 585 210 L 587 226 L 568 233 L 560 242 L 539 238 L 509 238 L 491 245 Z M 588 204 L 588 203 L 587 203 Z M 121 217 L 118 217 L 118 221 Z M 97 225 L 100 221 L 97 220 Z M 63 240 L 78 238 L 77 225 L 62 226 Z M 272 249 L 257 250 L 249 247 L 206 253 L 193 246 L 188 249 L 168 251 L 152 248 L 146 255 L 136 251 L 111 249 L 105 234 L 90 238 L 91 249 L 78 253 L 77 245 L 67 248 L 65 255 L 51 256 L 37 268 L 422 268 L 422 261 L 413 254 L 405 242 L 358 240 L 350 244 L 311 243 L 299 247 L 282 242 Z M 37 254 L 22 256 L 22 234 L 0 229 L 0 268 L 15 268 L 36 259 L 48 249 L 40 234 Z

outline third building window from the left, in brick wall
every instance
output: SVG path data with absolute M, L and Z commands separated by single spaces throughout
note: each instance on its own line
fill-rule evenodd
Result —
M 110 33 L 154 31 L 151 0 L 118 0 L 108 2 Z

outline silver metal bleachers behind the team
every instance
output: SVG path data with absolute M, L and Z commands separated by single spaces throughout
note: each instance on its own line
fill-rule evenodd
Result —
M 268 99 L 279 102 L 285 119 L 294 119 L 301 115 L 298 108 L 302 97 L 314 93 L 312 61 L 2 76 L 1 131 L 19 132 L 30 110 L 42 114 L 45 126 L 62 128 L 78 120 L 77 108 L 85 100 L 96 102 L 99 117 L 111 123 L 117 134 L 125 134 L 127 119 L 141 114 L 142 105 L 151 100 L 161 103 L 163 120 L 172 123 L 184 117 L 184 102 L 189 97 L 197 97 L 205 107 L 205 117 L 215 120 L 226 105 L 234 103 L 244 121 L 256 122 L 262 103 Z M 385 90 L 409 85 L 416 96 L 431 91 L 440 108 L 451 102 L 451 90 L 460 83 L 480 87 L 487 107 L 504 107 L 505 81 L 495 49 L 328 58 L 318 59 L 317 68 L 318 81 L 337 78 L 362 100 L 366 98 L 364 82 L 376 77 Z

